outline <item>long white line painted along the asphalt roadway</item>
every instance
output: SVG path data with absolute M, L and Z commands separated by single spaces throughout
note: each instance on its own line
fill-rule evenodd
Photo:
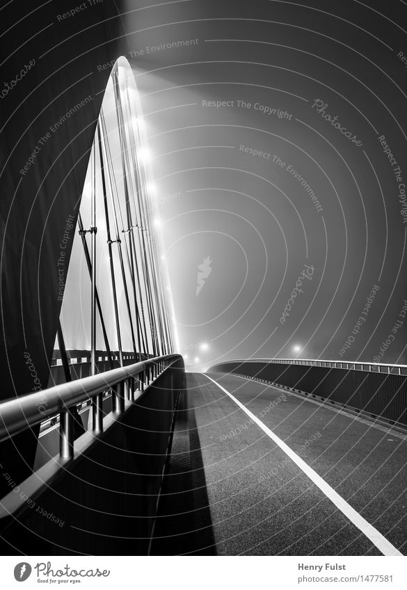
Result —
M 333 504 L 335 504 L 337 509 L 339 509 L 342 512 L 342 514 L 346 516 L 346 518 L 349 518 L 349 521 L 351 521 L 351 523 L 358 527 L 358 529 L 362 531 L 362 533 L 365 534 L 367 538 L 370 539 L 370 541 L 372 541 L 372 543 L 378 548 L 379 551 L 383 553 L 383 555 L 399 555 L 403 557 L 403 554 L 399 552 L 399 550 L 395 548 L 394 545 L 392 545 L 392 543 L 390 543 L 390 541 L 388 541 L 388 539 L 386 539 L 385 536 L 383 536 L 383 534 L 378 532 L 378 530 L 376 530 L 374 526 L 365 521 L 365 518 L 363 518 L 363 516 L 360 516 L 360 514 L 355 509 L 353 509 L 351 505 L 349 505 L 348 502 L 346 502 L 346 500 L 344 500 L 344 498 L 342 498 L 342 496 L 339 495 L 339 493 L 337 493 L 333 488 L 331 488 L 330 485 L 327 484 L 326 481 L 323 480 L 322 477 L 320 477 L 316 471 L 314 471 L 308 464 L 306 464 L 305 461 L 301 459 L 301 457 L 298 457 L 298 454 L 296 454 L 292 449 L 289 448 L 288 445 L 286 445 L 281 439 L 279 439 L 278 436 L 276 436 L 276 434 L 273 433 L 273 431 L 267 428 L 266 425 L 262 423 L 262 420 L 259 420 L 259 418 L 257 418 L 257 416 L 255 416 L 254 413 L 250 412 L 250 410 L 248 410 L 246 406 L 244 406 L 244 404 L 239 402 L 239 400 L 237 400 L 237 398 L 235 398 L 234 395 L 232 395 L 232 393 L 229 393 L 229 391 L 227 391 L 224 387 L 219 385 L 218 382 L 212 379 L 212 377 L 209 377 L 204 373 L 202 373 L 202 375 L 204 375 L 204 377 L 207 377 L 207 379 L 209 379 L 215 385 L 217 385 L 219 389 L 226 393 L 226 395 L 228 395 L 234 401 L 234 403 L 239 406 L 239 408 L 246 412 L 246 414 L 253 420 L 253 422 L 255 422 L 257 426 L 260 426 L 263 432 L 265 432 L 280 447 L 280 449 L 284 451 L 285 454 L 287 454 L 288 457 L 292 459 L 292 461 L 294 461 L 294 463 L 301 470 L 303 470 L 305 475 L 307 475 L 310 478 L 312 483 L 314 483 L 321 490 L 321 492 L 324 493 L 326 497 L 331 502 L 333 502 Z

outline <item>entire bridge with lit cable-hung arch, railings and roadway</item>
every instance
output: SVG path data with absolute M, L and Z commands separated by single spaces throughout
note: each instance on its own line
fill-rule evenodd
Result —
M 84 58 L 44 112 L 4 111 L 2 554 L 407 555 L 407 366 L 189 365 L 140 95 L 105 35 L 91 80 Z

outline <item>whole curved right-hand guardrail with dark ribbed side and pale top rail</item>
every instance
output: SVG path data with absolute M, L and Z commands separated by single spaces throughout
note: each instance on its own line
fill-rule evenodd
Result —
M 322 402 L 407 426 L 407 366 L 317 359 L 246 359 L 218 363 L 232 372 L 310 395 Z

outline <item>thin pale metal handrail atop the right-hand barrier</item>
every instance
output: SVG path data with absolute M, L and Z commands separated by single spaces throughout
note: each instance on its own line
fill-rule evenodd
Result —
M 276 364 L 291 364 L 291 365 L 305 365 L 310 367 L 326 367 L 333 369 L 353 369 L 368 372 L 385 372 L 396 375 L 407 375 L 407 365 L 388 365 L 384 363 L 364 363 L 362 361 L 330 361 L 324 359 L 232 359 L 230 361 L 223 361 L 216 363 L 209 368 L 216 368 L 225 363 L 276 363 Z M 372 369 L 372 367 L 375 367 Z

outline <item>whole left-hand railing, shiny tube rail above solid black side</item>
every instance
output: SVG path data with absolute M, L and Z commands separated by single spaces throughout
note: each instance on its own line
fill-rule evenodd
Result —
M 26 479 L 0 458 L 1 555 L 146 555 L 183 388 L 174 354 L 2 402 L 0 441 L 13 445 L 51 416 L 59 423 L 37 443 L 48 461 Z M 77 407 L 87 401 L 84 420 Z M 54 435 L 55 445 L 44 442 Z

